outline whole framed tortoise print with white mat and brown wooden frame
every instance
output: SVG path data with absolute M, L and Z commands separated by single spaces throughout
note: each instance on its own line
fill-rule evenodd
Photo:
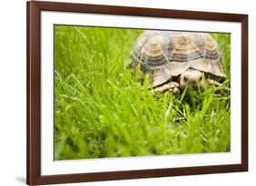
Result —
M 27 184 L 248 170 L 248 15 L 27 2 Z

